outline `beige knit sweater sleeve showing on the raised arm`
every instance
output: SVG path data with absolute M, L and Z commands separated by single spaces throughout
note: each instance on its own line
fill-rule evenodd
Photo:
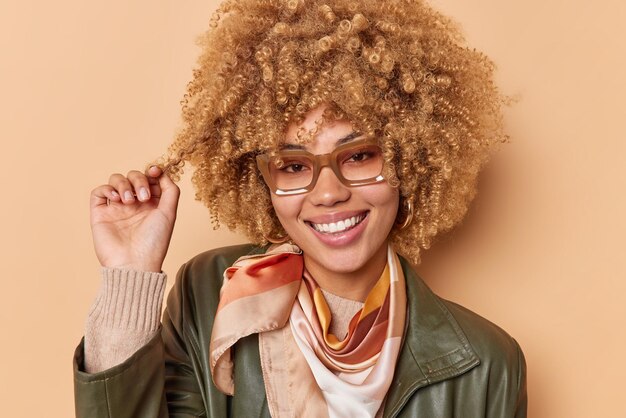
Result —
M 85 370 L 122 363 L 159 329 L 165 273 L 102 268 L 102 282 L 85 324 Z

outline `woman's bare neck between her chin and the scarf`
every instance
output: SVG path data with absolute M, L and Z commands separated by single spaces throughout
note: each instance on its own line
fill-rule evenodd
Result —
M 304 265 L 322 289 L 342 298 L 365 302 L 387 264 L 387 246 L 385 242 L 372 258 L 354 271 L 331 271 L 307 257 L 306 253 Z

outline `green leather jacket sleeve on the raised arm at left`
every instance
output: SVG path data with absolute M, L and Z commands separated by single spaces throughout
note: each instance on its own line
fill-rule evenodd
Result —
M 210 390 L 194 331 L 191 269 L 183 265 L 169 294 L 160 332 L 121 364 L 98 373 L 83 368 L 83 341 L 74 355 L 77 418 L 217 417 L 226 396 Z M 208 412 L 207 412 L 208 411 Z

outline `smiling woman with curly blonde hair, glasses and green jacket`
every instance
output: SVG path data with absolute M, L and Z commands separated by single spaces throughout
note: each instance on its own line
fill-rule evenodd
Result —
M 515 340 L 410 264 L 504 139 L 491 62 L 419 1 L 227 1 L 211 26 L 170 156 L 92 192 L 77 415 L 525 416 Z M 186 161 L 253 244 L 186 263 L 159 321 Z

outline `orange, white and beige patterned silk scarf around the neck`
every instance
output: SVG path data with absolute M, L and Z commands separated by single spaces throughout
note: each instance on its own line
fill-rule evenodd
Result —
M 213 381 L 225 394 L 234 393 L 230 348 L 258 333 L 273 418 L 380 416 L 405 316 L 404 275 L 391 247 L 383 274 L 343 340 L 328 331 L 330 309 L 298 247 L 284 244 L 242 257 L 224 272 L 211 335 Z

